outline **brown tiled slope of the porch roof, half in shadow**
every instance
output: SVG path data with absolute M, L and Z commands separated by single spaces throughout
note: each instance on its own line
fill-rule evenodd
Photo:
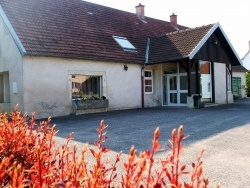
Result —
M 149 63 L 188 58 L 214 24 L 150 38 Z

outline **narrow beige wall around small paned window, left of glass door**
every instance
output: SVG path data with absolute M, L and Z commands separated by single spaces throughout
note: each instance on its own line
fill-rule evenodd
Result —
M 162 105 L 162 69 L 161 64 L 147 65 L 145 70 L 153 71 L 153 94 L 145 94 L 145 107 L 155 107 Z

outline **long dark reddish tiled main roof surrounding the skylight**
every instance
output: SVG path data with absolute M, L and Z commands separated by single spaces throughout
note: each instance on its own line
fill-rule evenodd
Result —
M 26 53 L 32 55 L 144 63 L 147 37 L 176 31 L 166 21 L 146 17 L 144 23 L 133 13 L 82 0 L 0 0 L 0 5 Z M 178 42 L 184 33 L 164 40 Z M 126 37 L 138 52 L 123 51 L 112 35 Z M 184 53 L 178 57 L 187 54 L 184 48 L 175 52 Z

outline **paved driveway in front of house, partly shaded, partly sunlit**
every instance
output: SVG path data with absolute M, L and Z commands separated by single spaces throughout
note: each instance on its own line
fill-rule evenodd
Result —
M 52 118 L 57 136 L 65 138 L 74 132 L 75 141 L 90 144 L 97 140 L 96 128 L 101 120 L 108 125 L 106 146 L 113 151 L 127 153 L 132 145 L 138 151 L 150 149 L 153 132 L 161 130 L 163 149 L 173 128 L 184 125 L 184 159 L 195 161 L 201 148 L 204 173 L 210 187 L 250 187 L 250 99 L 210 108 L 145 108 L 110 111 L 107 113 Z M 166 147 L 165 147 L 166 149 Z M 157 157 L 162 158 L 160 152 Z

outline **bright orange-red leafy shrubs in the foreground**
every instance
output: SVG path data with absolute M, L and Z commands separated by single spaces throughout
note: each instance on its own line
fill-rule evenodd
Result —
M 183 126 L 172 131 L 168 145 L 170 152 L 160 161 L 154 158 L 160 149 L 160 130 L 157 128 L 151 151 L 137 155 L 132 146 L 126 161 L 121 161 L 122 153 L 118 153 L 113 162 L 107 163 L 103 158 L 111 151 L 103 145 L 107 139 L 104 121 L 97 128 L 96 149 L 86 144 L 77 155 L 76 146 L 70 146 L 72 134 L 64 145 L 57 146 L 54 138 L 57 131 L 50 125 L 50 119 L 39 125 L 35 114 L 29 121 L 27 119 L 27 114 L 21 115 L 18 110 L 14 110 L 10 117 L 6 113 L 0 114 L 0 187 L 208 187 L 208 179 L 203 178 L 203 150 L 189 171 L 180 161 L 185 138 Z M 93 165 L 89 165 L 86 157 L 89 151 L 94 158 Z M 118 163 L 123 163 L 123 173 L 119 175 Z

